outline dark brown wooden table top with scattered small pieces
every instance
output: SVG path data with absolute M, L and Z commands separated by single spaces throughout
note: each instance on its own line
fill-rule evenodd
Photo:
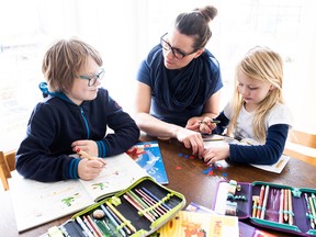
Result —
M 155 138 L 148 136 L 142 137 L 143 142 L 153 139 Z M 202 160 L 179 156 L 179 154 L 191 155 L 190 150 L 185 149 L 181 143 L 173 139 L 158 142 L 169 179 L 169 184 L 167 184 L 167 187 L 182 193 L 185 196 L 187 205 L 190 202 L 195 202 L 211 208 L 215 198 L 217 182 L 224 178 L 227 180 L 234 179 L 238 182 L 267 181 L 296 188 L 316 188 L 316 167 L 301 160 L 290 159 L 280 174 L 263 171 L 248 165 L 227 163 L 222 170 L 214 170 L 213 176 L 207 176 L 203 173 L 207 167 Z M 2 192 L 0 196 L 0 233 L 1 235 L 5 234 L 5 237 L 40 236 L 46 233 L 49 227 L 60 225 L 72 216 L 68 215 L 19 235 L 12 211 L 10 191 Z M 263 230 L 278 236 L 291 236 L 290 234 L 282 234 L 270 229 Z

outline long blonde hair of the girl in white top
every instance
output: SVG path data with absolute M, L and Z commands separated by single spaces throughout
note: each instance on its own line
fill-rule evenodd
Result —
M 227 134 L 230 135 L 236 125 L 237 117 L 241 108 L 244 106 L 244 100 L 238 91 L 238 71 L 242 71 L 246 76 L 253 80 L 260 80 L 271 83 L 273 90 L 269 92 L 267 98 L 260 102 L 259 108 L 255 112 L 252 121 L 252 131 L 255 138 L 263 143 L 267 137 L 264 119 L 269 110 L 273 108 L 275 103 L 284 103 L 282 97 L 282 82 L 283 82 L 283 61 L 281 56 L 271 50 L 268 47 L 257 46 L 251 48 L 244 59 L 236 67 L 235 76 L 235 92 L 230 101 L 230 105 L 234 111 L 233 117 L 228 125 Z

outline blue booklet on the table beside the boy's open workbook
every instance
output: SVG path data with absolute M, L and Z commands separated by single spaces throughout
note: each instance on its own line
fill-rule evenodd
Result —
M 157 140 L 137 143 L 127 154 L 160 184 L 168 184 L 168 177 Z

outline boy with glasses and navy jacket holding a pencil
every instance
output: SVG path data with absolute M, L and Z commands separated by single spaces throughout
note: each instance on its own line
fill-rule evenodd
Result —
M 42 71 L 45 99 L 29 121 L 16 153 L 16 170 L 43 182 L 94 179 L 104 157 L 125 153 L 139 137 L 134 120 L 100 88 L 104 76 L 101 55 L 78 40 L 61 40 L 45 54 Z M 114 133 L 106 134 L 106 127 Z M 94 157 L 69 155 L 81 150 Z

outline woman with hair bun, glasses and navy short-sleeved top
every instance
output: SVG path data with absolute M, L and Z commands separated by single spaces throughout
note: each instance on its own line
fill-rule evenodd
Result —
M 219 113 L 219 65 L 205 49 L 214 7 L 181 13 L 160 38 L 137 75 L 136 123 L 145 133 L 174 137 L 202 157 L 200 125 Z M 213 124 L 210 124 L 213 128 Z

